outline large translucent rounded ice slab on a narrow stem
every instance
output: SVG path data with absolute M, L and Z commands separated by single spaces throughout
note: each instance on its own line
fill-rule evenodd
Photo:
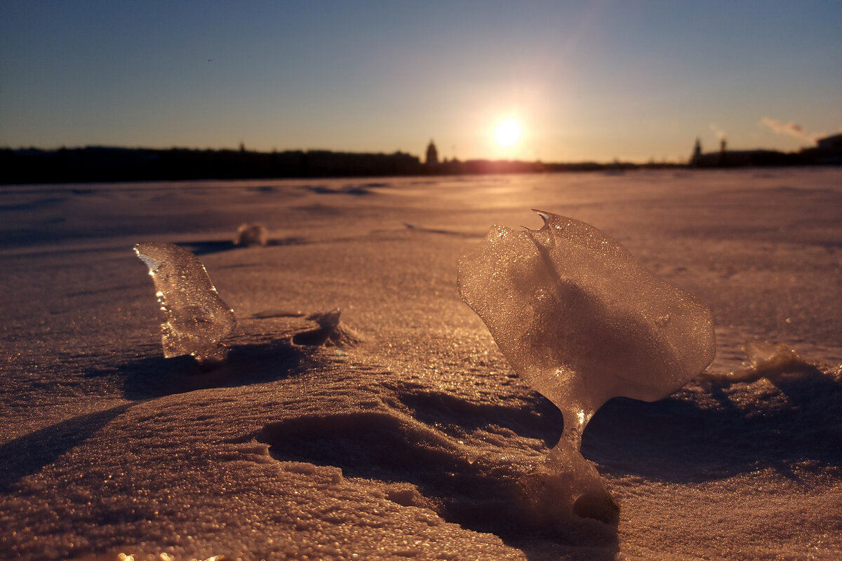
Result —
M 615 501 L 579 453 L 605 401 L 660 400 L 713 360 L 711 311 L 655 278 L 584 222 L 536 212 L 540 230 L 495 225 L 459 261 L 459 292 L 521 378 L 564 416 L 546 463 L 522 481 L 536 516 L 616 520 Z

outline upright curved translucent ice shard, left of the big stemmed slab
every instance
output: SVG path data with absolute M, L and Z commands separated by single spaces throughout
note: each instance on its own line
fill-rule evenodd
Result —
M 135 253 L 149 267 L 161 304 L 163 356 L 190 355 L 200 363 L 223 358 L 221 341 L 237 322 L 199 258 L 164 242 L 136 244 Z

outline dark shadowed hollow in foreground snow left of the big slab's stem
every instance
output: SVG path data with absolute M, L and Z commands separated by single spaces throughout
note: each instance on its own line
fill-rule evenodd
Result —
M 475 457 L 459 437 L 488 426 L 511 427 L 557 441 L 561 426 L 530 405 L 471 404 L 447 394 L 403 391 L 391 406 L 290 418 L 256 435 L 282 462 L 342 469 L 346 478 L 381 485 L 402 505 L 423 506 L 446 521 L 492 532 L 529 555 L 527 542 L 549 539 L 592 546 L 589 558 L 613 558 L 616 527 L 599 521 L 560 521 L 530 508 L 520 486 L 524 467 L 494 454 Z M 552 408 L 552 404 L 546 402 Z M 561 414 L 547 410 L 549 415 Z M 418 495 L 392 485 L 409 484 Z M 534 545 L 534 544 L 533 544 Z

